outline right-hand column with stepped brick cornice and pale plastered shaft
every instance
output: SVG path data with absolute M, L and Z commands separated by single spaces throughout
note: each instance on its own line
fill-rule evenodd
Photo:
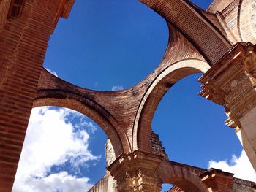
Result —
M 200 77 L 205 97 L 225 107 L 227 126 L 236 129 L 256 170 L 256 50 L 238 43 Z

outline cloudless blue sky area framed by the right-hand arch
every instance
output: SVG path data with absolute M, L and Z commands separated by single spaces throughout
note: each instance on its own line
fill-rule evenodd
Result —
M 224 108 L 197 95 L 200 75 L 184 77 L 167 91 L 151 127 L 170 161 L 208 169 L 210 161 L 238 156 L 242 147 L 234 130 L 225 126 Z

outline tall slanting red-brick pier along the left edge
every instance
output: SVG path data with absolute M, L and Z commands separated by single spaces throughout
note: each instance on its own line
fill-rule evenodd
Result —
M 0 3 L 7 10 L 7 1 Z M 12 188 L 58 5 L 26 0 L 22 15 L 8 19 L 0 33 L 1 192 Z

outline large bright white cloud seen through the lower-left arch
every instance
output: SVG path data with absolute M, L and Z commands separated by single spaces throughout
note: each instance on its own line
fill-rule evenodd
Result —
M 78 124 L 71 121 L 78 118 Z M 89 134 L 95 127 L 72 110 L 37 107 L 31 112 L 23 150 L 12 192 L 86 191 L 89 178 L 67 172 L 53 173 L 50 168 L 69 162 L 75 172 L 89 161 L 99 160 L 89 151 Z

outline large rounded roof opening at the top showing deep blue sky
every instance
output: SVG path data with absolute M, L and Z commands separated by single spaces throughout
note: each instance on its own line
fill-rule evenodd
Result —
M 129 88 L 162 60 L 168 34 L 165 20 L 140 1 L 77 0 L 59 20 L 44 66 L 83 88 Z

